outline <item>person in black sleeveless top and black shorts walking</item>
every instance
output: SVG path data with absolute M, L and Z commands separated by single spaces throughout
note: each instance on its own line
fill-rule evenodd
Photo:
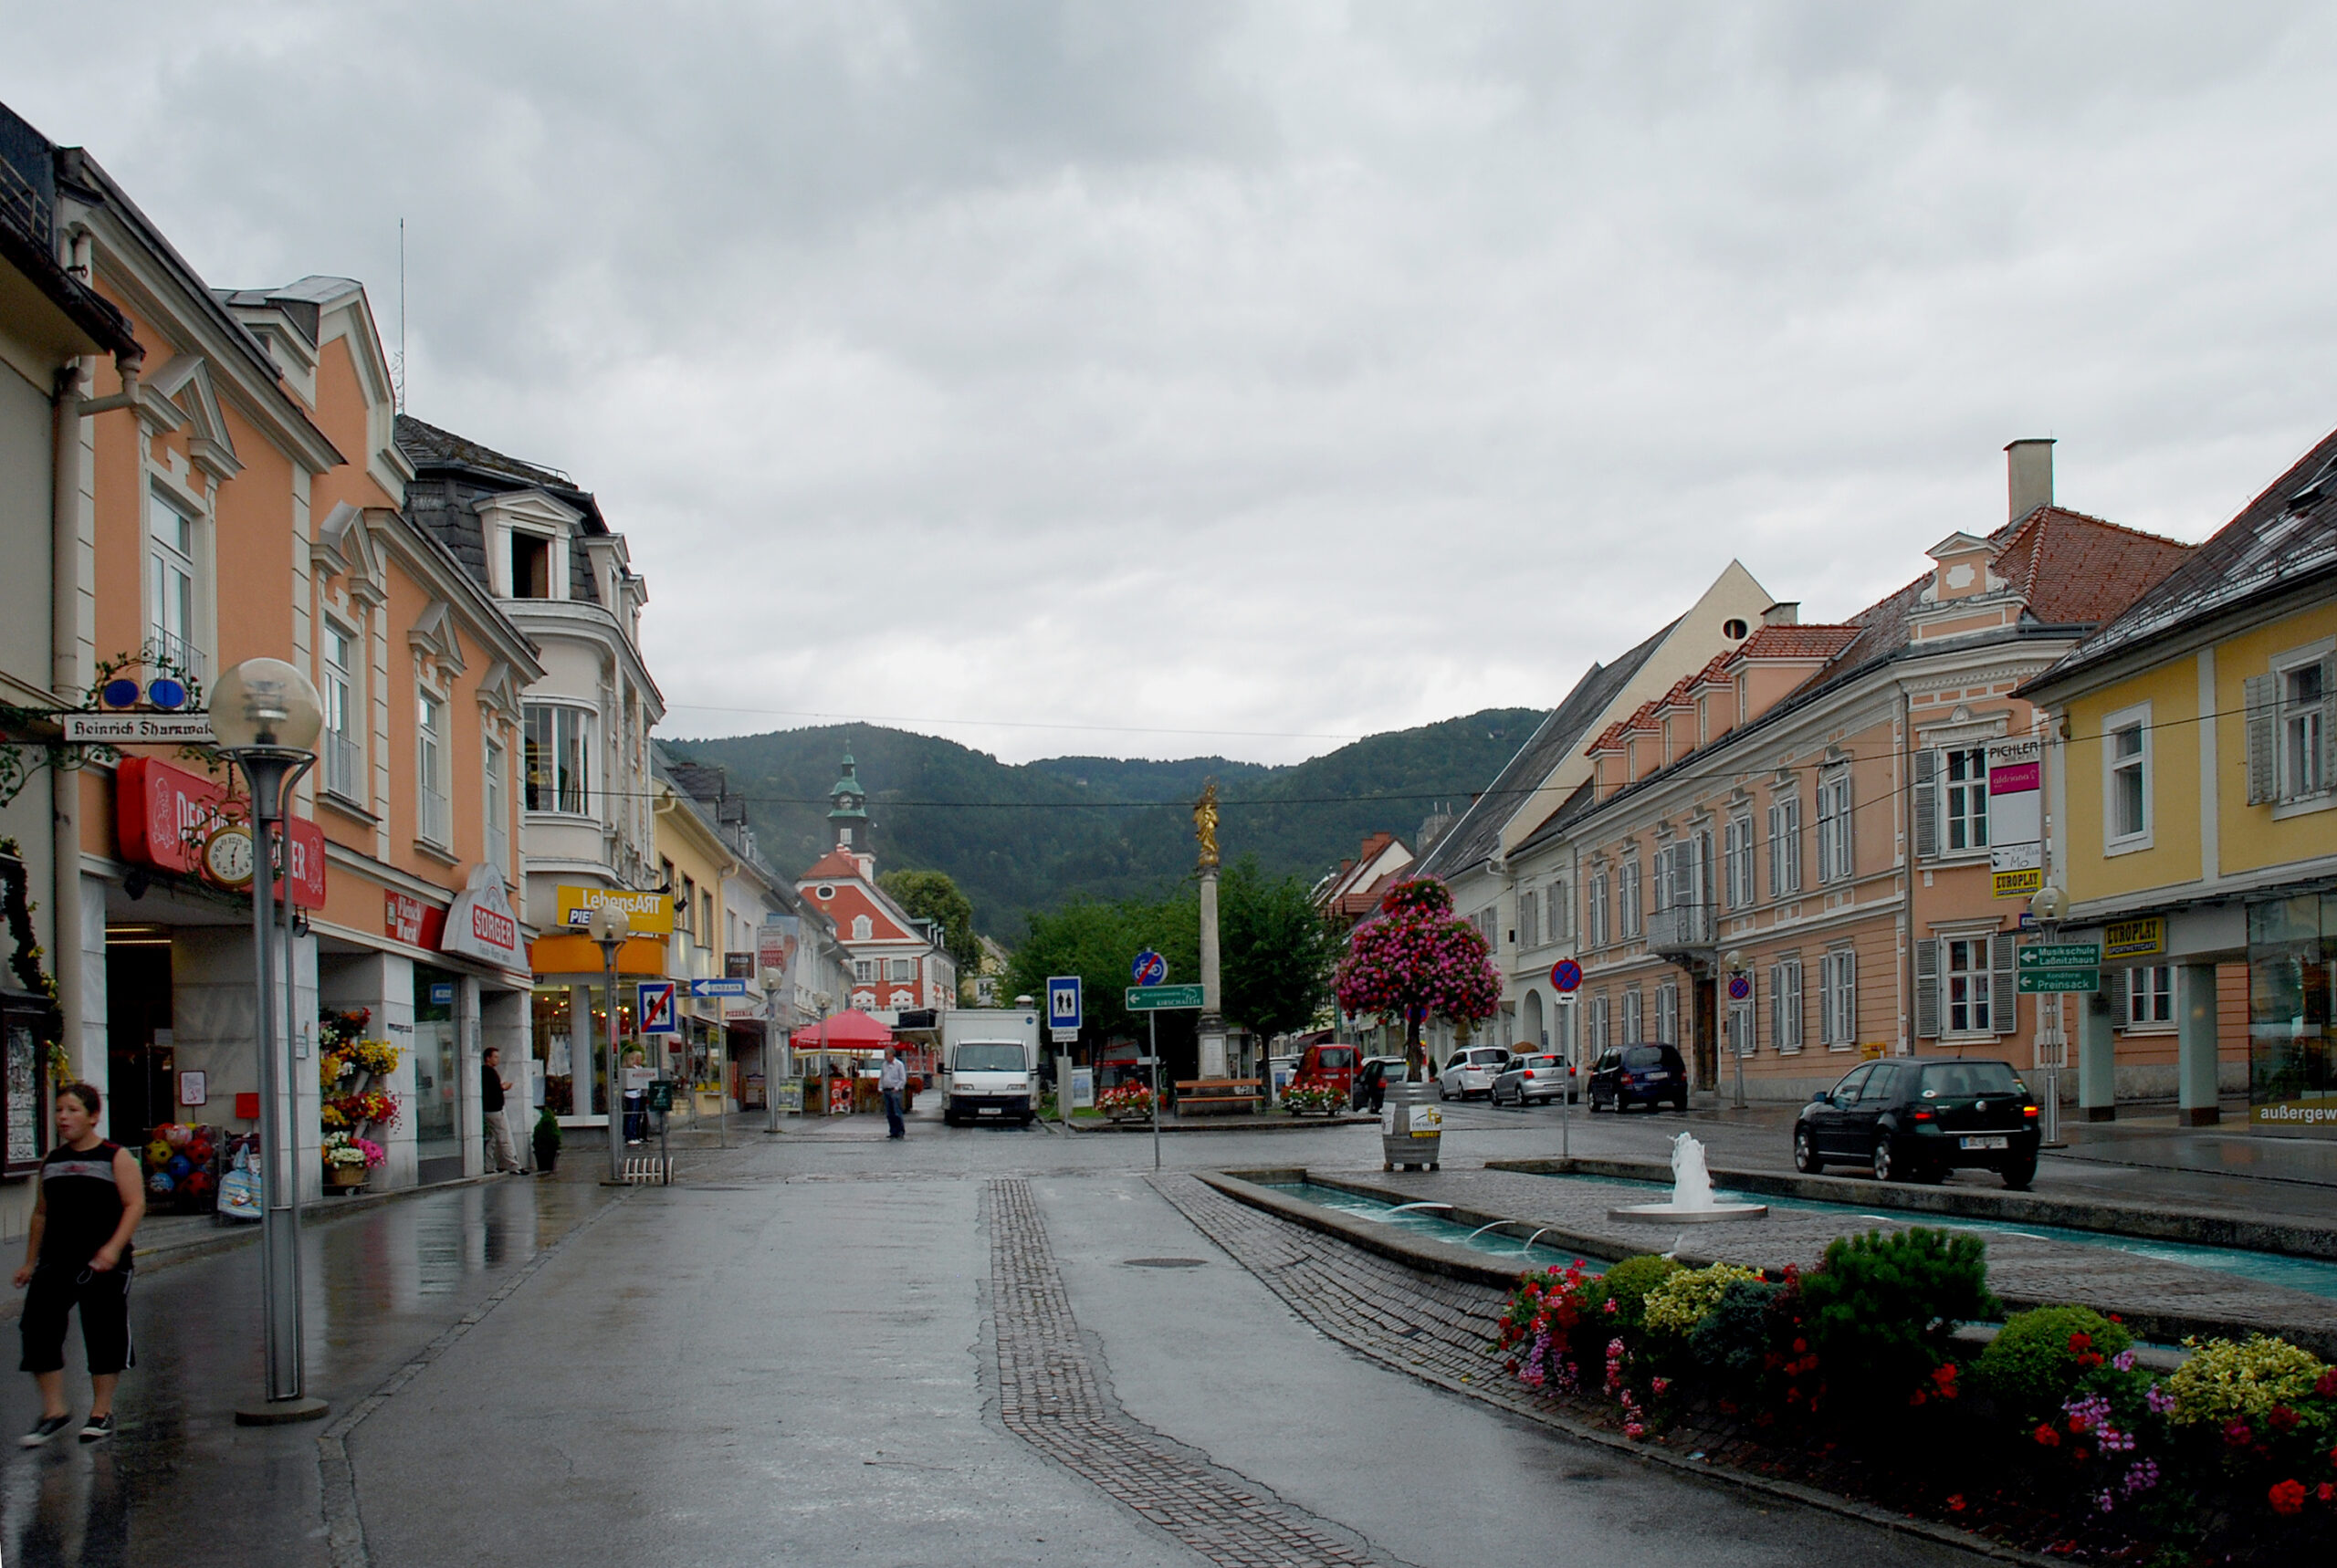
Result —
M 131 1236 L 145 1217 L 138 1157 L 98 1136 L 103 1098 L 89 1084 L 56 1091 L 56 1147 L 40 1161 L 40 1196 L 23 1239 L 21 1369 L 40 1386 L 40 1421 L 23 1435 L 37 1449 L 68 1425 L 65 1313 L 82 1309 L 89 1355 L 89 1421 L 82 1442 L 115 1435 L 115 1386 L 131 1355 Z

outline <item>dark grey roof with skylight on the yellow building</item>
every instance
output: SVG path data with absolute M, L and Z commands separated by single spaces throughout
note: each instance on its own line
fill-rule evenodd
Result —
M 2108 626 L 2045 671 L 2059 685 L 2150 638 L 2206 622 L 2253 598 L 2337 570 L 2337 430 L 2321 437 L 2262 495 L 2166 573 Z

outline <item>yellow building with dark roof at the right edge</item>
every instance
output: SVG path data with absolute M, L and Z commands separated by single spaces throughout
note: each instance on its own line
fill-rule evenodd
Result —
M 2103 944 L 2078 1098 L 2248 1094 L 2337 1136 L 2337 435 L 2022 689 L 2050 708 L 2064 939 Z

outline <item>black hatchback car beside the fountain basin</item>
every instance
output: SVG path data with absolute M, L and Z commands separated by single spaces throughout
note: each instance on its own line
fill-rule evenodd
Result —
M 1898 1056 L 1851 1068 L 1792 1124 L 1792 1168 L 1860 1164 L 1879 1182 L 1937 1182 L 1998 1171 L 2026 1189 L 2038 1173 L 2038 1103 L 2007 1061 Z

